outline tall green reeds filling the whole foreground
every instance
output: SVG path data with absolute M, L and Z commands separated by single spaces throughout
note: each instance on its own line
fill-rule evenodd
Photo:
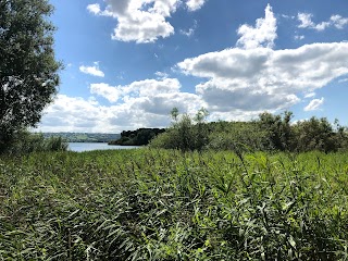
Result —
M 0 158 L 0 260 L 348 260 L 348 153 Z

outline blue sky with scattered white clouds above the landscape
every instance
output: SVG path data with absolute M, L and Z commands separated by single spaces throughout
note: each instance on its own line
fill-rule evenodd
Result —
M 51 0 L 64 69 L 40 132 L 166 127 L 170 112 L 348 125 L 347 0 Z

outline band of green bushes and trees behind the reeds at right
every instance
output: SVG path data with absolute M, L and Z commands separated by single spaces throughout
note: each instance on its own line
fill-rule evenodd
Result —
M 169 129 L 151 141 L 153 148 L 188 150 L 288 151 L 320 150 L 333 152 L 348 149 L 347 129 L 325 117 L 291 123 L 291 112 L 281 115 L 262 113 L 250 122 L 211 122 L 204 116 L 179 115 L 175 111 Z M 204 114 L 206 113 L 206 114 Z M 198 115 L 207 115 L 199 111 Z M 199 119 L 199 121 L 197 121 Z

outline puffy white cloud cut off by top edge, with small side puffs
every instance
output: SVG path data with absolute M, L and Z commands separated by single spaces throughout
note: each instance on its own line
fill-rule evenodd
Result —
M 145 44 L 174 34 L 174 27 L 166 18 L 176 12 L 179 0 L 107 0 L 107 3 L 104 10 L 97 3 L 87 5 L 87 10 L 117 20 L 112 39 Z M 186 4 L 189 11 L 195 11 L 203 3 L 203 0 L 189 0 Z

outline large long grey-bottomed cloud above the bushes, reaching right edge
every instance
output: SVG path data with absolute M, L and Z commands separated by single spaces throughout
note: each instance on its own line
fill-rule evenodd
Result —
M 313 44 L 297 49 L 226 49 L 186 59 L 177 67 L 204 78 L 197 95 L 209 110 L 284 110 L 348 73 L 348 42 Z

